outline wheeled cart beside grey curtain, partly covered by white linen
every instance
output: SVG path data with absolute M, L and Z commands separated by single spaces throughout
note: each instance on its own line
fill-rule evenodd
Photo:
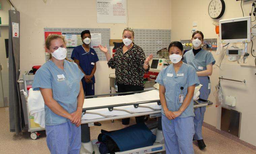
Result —
M 28 71 L 25 71 L 23 74 L 23 78 L 20 78 L 17 82 L 18 83 L 23 83 L 24 84 L 24 91 L 28 94 L 28 90 L 32 88 L 32 83 L 34 80 L 33 73 L 29 73 Z M 25 96 L 26 100 L 26 107 L 27 107 L 27 114 L 28 114 L 28 132 L 30 132 L 30 137 L 31 139 L 35 140 L 39 137 L 39 133 L 37 131 L 43 131 L 45 130 L 44 128 L 40 127 L 38 124 L 34 122 L 34 117 L 29 115 L 28 111 L 28 101 Z

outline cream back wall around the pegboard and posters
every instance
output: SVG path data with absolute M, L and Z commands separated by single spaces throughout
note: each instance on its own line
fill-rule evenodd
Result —
M 21 71 L 41 65 L 44 58 L 45 27 L 110 28 L 111 39 L 121 39 L 127 26 L 143 29 L 171 29 L 170 0 L 127 0 L 127 24 L 97 23 L 96 0 L 12 0 L 21 18 Z M 109 73 L 106 61 L 97 63 L 96 94 L 109 92 Z

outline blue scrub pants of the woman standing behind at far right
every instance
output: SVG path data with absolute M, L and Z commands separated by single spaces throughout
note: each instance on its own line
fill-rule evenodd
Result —
M 203 85 L 200 88 L 200 96 L 199 98 L 207 100 L 208 96 L 210 95 L 211 89 L 208 89 L 208 83 L 210 83 L 210 78 L 208 76 L 199 76 L 200 84 Z M 205 113 L 206 107 L 198 107 L 194 110 L 195 118 L 194 118 L 194 127 L 195 127 L 195 140 L 202 140 L 202 125 L 203 125 L 203 118 Z

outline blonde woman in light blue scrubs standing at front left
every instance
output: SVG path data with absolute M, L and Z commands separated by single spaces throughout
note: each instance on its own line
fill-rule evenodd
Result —
M 44 99 L 46 143 L 52 154 L 79 154 L 84 74 L 67 60 L 63 36 L 49 35 L 45 46 L 50 60 L 36 71 L 32 87 Z

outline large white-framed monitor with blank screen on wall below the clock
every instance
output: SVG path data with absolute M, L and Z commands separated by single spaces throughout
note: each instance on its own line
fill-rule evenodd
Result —
M 219 27 L 222 43 L 248 43 L 251 41 L 251 17 L 220 20 Z

